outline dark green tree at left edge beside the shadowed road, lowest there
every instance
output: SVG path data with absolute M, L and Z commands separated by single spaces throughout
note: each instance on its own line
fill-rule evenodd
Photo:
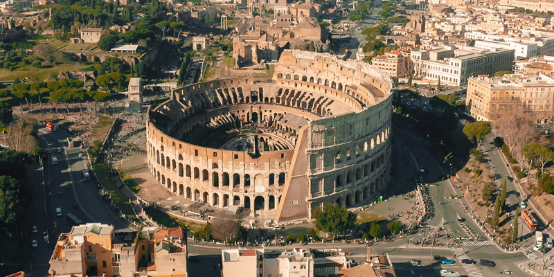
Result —
M 10 234 L 17 232 L 17 220 L 21 217 L 20 187 L 14 177 L 0 176 L 0 226 Z

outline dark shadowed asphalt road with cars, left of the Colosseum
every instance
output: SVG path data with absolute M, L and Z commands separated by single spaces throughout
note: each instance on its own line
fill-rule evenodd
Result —
M 67 213 L 73 213 L 82 222 L 102 222 L 113 224 L 116 229 L 127 228 L 126 222 L 117 217 L 102 200 L 93 182 L 82 180 L 81 170 L 86 165 L 83 158 L 78 156 L 80 148 L 69 148 L 66 139 L 64 131 L 39 129 L 39 142 L 50 153 L 48 160 L 43 161 L 44 185 L 43 171 L 39 166 L 30 172 L 34 189 L 31 196 L 33 222 L 29 222 L 29 228 L 36 225 L 38 229 L 37 233 L 33 233 L 38 247 L 32 250 L 31 262 L 32 273 L 37 276 L 47 275 L 48 260 L 60 233 L 71 231 L 73 222 L 67 219 Z M 53 164 L 53 157 L 57 158 L 57 164 Z M 62 216 L 55 215 L 58 207 L 62 210 Z M 49 244 L 44 240 L 44 232 L 48 234 Z

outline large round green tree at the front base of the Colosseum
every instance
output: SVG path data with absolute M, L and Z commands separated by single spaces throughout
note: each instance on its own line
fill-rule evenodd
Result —
M 356 222 L 356 214 L 348 211 L 338 204 L 325 205 L 323 210 L 319 208 L 314 211 L 316 228 L 320 231 L 335 235 L 352 229 Z

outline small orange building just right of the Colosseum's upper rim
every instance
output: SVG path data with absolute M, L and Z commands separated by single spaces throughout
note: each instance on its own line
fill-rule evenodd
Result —
M 391 77 L 402 78 L 411 72 L 409 54 L 403 53 L 400 49 L 373 57 L 371 64 Z

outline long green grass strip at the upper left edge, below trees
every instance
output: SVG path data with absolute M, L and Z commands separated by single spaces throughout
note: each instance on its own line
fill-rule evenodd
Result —
M 12 81 L 15 80 L 15 78 L 19 78 L 21 80 L 24 78 L 29 78 L 30 80 L 44 80 L 48 77 L 57 76 L 60 72 L 83 71 L 89 67 L 90 65 L 73 62 L 46 68 L 37 68 L 35 66 L 26 65 L 18 67 L 14 71 L 0 69 L 0 82 Z

